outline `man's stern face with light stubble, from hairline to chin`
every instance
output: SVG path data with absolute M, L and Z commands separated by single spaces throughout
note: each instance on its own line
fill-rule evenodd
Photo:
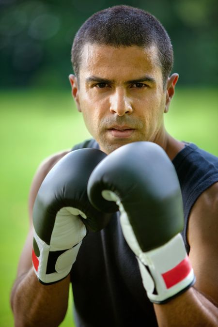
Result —
M 156 47 L 86 44 L 72 93 L 107 154 L 126 143 L 161 138 L 166 91 Z

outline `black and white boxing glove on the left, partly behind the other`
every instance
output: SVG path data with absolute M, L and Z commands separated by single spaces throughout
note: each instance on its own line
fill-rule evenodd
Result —
M 32 263 L 43 284 L 65 278 L 87 229 L 96 232 L 109 222 L 109 215 L 93 208 L 87 196 L 89 176 L 105 156 L 97 149 L 70 152 L 39 188 L 33 206 Z

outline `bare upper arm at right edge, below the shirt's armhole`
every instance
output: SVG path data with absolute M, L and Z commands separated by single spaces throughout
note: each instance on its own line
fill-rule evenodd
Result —
M 195 203 L 189 218 L 189 258 L 195 287 L 218 304 L 218 183 Z

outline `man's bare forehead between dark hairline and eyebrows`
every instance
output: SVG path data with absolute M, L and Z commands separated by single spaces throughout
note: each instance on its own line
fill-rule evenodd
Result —
M 128 78 L 150 74 L 162 77 L 156 46 L 111 47 L 85 44 L 80 63 L 80 77 Z

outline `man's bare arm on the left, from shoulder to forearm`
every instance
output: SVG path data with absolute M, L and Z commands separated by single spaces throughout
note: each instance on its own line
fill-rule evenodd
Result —
M 29 198 L 30 231 L 20 256 L 17 277 L 11 293 L 11 307 L 16 327 L 59 326 L 67 310 L 69 276 L 53 285 L 42 285 L 32 269 L 31 251 L 32 208 L 36 194 L 48 171 L 68 152 L 64 151 L 45 160 L 32 182 Z

